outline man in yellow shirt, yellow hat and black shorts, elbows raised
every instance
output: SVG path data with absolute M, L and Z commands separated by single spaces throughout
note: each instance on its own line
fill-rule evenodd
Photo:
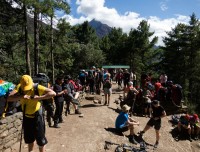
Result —
M 39 145 L 39 151 L 44 152 L 47 144 L 45 137 L 45 121 L 41 100 L 49 99 L 56 93 L 39 84 L 34 84 L 29 75 L 23 75 L 20 83 L 10 93 L 8 101 L 20 100 L 23 111 L 24 140 L 28 144 L 28 151 L 33 151 L 34 141 Z

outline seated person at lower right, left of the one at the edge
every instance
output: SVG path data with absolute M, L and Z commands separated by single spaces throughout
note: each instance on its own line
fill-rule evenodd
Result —
M 177 128 L 178 128 L 178 135 L 176 137 L 176 140 L 179 140 L 180 133 L 183 129 L 187 130 L 188 133 L 188 139 L 189 141 L 192 141 L 191 138 L 191 126 L 190 126 L 190 115 L 189 114 L 183 114 L 181 115 Z

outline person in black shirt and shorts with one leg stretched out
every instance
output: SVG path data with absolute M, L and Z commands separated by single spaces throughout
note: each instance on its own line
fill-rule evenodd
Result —
M 162 106 L 160 106 L 160 103 L 158 100 L 152 101 L 152 117 L 147 122 L 147 125 L 145 126 L 144 130 L 140 132 L 140 136 L 142 136 L 147 130 L 150 129 L 150 127 L 155 128 L 156 131 L 156 143 L 154 144 L 154 148 L 158 147 L 159 139 L 160 139 L 160 133 L 159 130 L 161 128 L 161 119 L 166 116 L 166 112 Z

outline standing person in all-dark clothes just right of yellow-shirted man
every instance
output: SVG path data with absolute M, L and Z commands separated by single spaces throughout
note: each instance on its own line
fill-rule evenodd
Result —
M 63 95 L 65 93 L 67 93 L 67 90 L 62 89 L 63 82 L 64 82 L 64 79 L 62 77 L 58 77 L 56 79 L 56 83 L 53 87 L 53 90 L 56 92 L 56 96 L 54 97 L 54 101 L 56 104 L 56 111 L 54 114 L 54 127 L 55 128 L 60 128 L 60 126 L 58 126 L 58 123 L 63 123 L 63 118 L 62 118 L 63 103 L 64 103 Z

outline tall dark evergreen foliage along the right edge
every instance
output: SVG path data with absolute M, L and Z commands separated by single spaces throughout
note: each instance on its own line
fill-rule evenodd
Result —
M 199 21 L 192 14 L 189 25 L 178 24 L 167 34 L 164 38 L 163 68 L 171 80 L 183 86 L 190 111 L 199 111 Z

